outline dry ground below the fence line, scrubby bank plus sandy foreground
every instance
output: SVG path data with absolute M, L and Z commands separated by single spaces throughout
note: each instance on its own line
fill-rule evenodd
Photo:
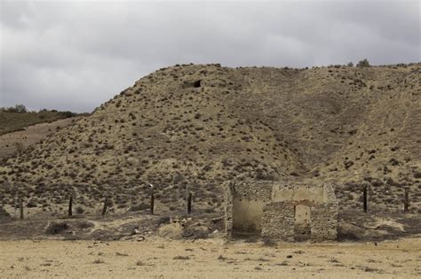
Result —
M 341 222 L 338 242 L 317 244 L 227 240 L 209 214 L 49 215 L 0 223 L 2 278 L 421 276 L 420 223 L 410 214 Z

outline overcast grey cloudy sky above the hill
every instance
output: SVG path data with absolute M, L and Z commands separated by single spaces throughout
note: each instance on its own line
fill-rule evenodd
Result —
M 0 107 L 91 112 L 163 66 L 421 61 L 418 1 L 0 0 Z

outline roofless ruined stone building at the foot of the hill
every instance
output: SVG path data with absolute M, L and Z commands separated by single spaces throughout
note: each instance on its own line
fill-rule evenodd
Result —
M 227 236 L 299 241 L 337 238 L 338 200 L 330 184 L 227 182 Z

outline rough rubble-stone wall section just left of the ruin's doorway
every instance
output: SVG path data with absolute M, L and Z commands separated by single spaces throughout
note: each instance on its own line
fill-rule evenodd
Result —
M 262 236 L 294 241 L 294 205 L 288 202 L 269 203 L 263 209 Z

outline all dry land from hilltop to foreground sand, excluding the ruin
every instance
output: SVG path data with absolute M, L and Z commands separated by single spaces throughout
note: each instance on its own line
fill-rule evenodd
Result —
M 176 65 L 77 120 L 4 134 L 0 277 L 419 278 L 420 73 Z M 338 242 L 227 240 L 234 179 L 332 183 Z

